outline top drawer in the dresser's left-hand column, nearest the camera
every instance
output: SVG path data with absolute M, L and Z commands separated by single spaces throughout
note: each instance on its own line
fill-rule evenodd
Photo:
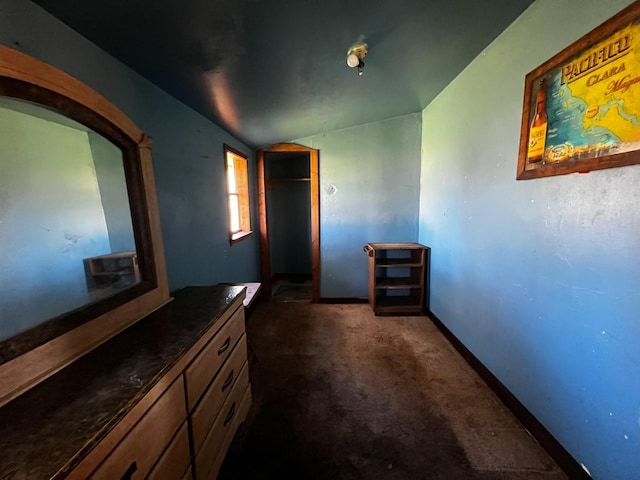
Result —
M 180 376 L 122 439 L 91 478 L 145 478 L 174 433 L 184 423 L 186 416 L 184 384 Z M 127 476 L 128 474 L 130 475 Z

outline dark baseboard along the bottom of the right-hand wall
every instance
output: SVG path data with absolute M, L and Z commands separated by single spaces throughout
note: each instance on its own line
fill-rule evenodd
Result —
M 585 472 L 571 454 L 555 439 L 553 435 L 542 425 L 533 414 L 518 400 L 498 378 L 489 371 L 478 358 L 465 347 L 465 345 L 449 330 L 444 323 L 431 311 L 429 318 L 442 334 L 451 342 L 462 358 L 473 368 L 484 382 L 494 391 L 498 398 L 505 404 L 524 428 L 535 438 L 540 446 L 553 458 L 571 479 L 591 480 L 591 476 Z

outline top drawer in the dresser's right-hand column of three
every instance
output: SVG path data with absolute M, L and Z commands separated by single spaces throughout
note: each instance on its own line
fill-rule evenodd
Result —
M 244 308 L 238 308 L 185 370 L 187 406 L 191 411 L 244 333 Z

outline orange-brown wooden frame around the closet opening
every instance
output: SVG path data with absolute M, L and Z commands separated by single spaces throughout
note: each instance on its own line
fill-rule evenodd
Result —
M 297 143 L 277 143 L 256 152 L 258 170 L 258 214 L 260 217 L 260 277 L 262 296 L 271 300 L 271 252 L 267 223 L 267 186 L 264 175 L 265 153 L 308 153 L 311 186 L 311 301 L 320 301 L 320 186 L 318 175 L 318 150 Z

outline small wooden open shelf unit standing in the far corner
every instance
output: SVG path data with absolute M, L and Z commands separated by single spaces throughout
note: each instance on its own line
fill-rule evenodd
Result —
M 367 243 L 369 304 L 381 313 L 424 314 L 429 308 L 431 249 L 419 243 Z

